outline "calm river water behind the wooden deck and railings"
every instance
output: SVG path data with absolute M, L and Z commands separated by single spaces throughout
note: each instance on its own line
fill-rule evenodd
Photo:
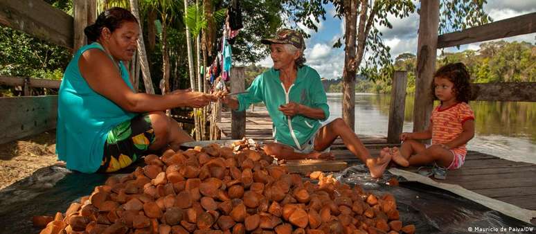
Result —
M 404 132 L 413 130 L 413 96 L 407 96 Z M 390 95 L 356 93 L 355 132 L 387 136 Z M 341 93 L 328 93 L 330 118 L 342 117 Z M 436 102 L 434 105 L 438 105 Z M 473 101 L 475 136 L 468 150 L 536 163 L 536 102 Z

